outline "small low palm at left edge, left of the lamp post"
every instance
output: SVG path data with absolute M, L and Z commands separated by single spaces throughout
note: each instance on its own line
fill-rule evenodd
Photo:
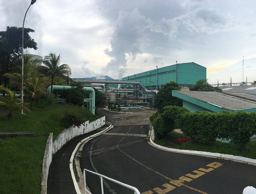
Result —
M 5 88 L 3 85 L 0 86 L 0 90 L 5 91 L 5 93 L 7 94 L 6 97 L 0 96 L 0 107 L 3 107 L 5 110 L 8 111 L 8 120 L 11 119 L 13 111 L 23 110 L 30 112 L 28 109 L 29 103 L 21 102 L 21 99 L 16 96 L 16 92 L 12 92 L 8 88 Z

